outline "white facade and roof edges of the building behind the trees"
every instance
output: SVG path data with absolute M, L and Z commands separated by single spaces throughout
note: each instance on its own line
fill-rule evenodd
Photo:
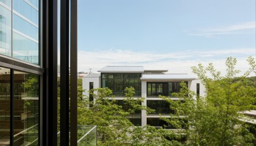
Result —
M 205 97 L 205 87 L 202 85 L 200 80 L 196 80 L 195 77 L 188 75 L 188 74 L 165 74 L 167 72 L 166 70 L 144 70 L 143 66 L 105 66 L 101 70 L 99 70 L 101 74 L 94 74 L 94 75 L 87 75 L 83 78 L 83 89 L 89 89 L 90 82 L 93 82 L 93 88 L 100 88 L 101 87 L 101 80 L 102 78 L 100 75 L 102 74 L 131 74 L 131 73 L 137 73 L 140 74 L 141 77 L 138 78 L 141 82 L 141 95 L 137 97 L 144 97 L 143 105 L 147 106 L 147 103 L 153 103 L 158 102 L 162 103 L 158 96 L 149 96 L 148 94 L 148 84 L 155 84 L 157 83 L 163 83 L 167 85 L 168 83 L 179 83 L 179 82 L 187 82 L 188 88 L 191 91 L 194 91 L 197 93 L 197 87 L 199 86 L 199 95 L 202 97 Z M 105 77 L 104 77 L 105 78 Z M 113 75 L 114 78 L 114 75 Z M 113 78 L 110 78 L 113 80 Z M 157 89 L 157 87 L 155 87 Z M 168 87 L 169 89 L 169 87 Z M 162 85 L 163 90 L 163 85 Z M 84 93 L 88 96 L 88 93 Z M 169 93 L 168 93 L 169 94 Z M 117 96 L 115 97 L 115 100 L 123 100 L 125 99 L 125 96 Z M 179 100 L 179 98 L 172 97 L 173 100 Z M 164 108 L 158 107 L 160 111 Z M 157 108 L 157 109 L 158 109 Z M 169 117 L 168 114 L 162 114 L 162 116 Z M 157 121 L 159 119 L 159 114 L 146 114 L 146 111 L 141 111 L 141 126 L 147 125 L 151 123 L 152 121 Z M 151 122 L 148 122 L 147 120 L 152 120 Z M 157 123 L 157 122 L 156 122 Z

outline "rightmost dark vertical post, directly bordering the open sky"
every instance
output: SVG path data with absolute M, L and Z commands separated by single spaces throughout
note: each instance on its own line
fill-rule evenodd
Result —
M 77 0 L 70 7 L 70 143 L 77 145 Z

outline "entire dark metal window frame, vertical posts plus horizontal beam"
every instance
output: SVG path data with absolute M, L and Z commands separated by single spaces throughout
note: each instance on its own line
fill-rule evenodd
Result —
M 61 1 L 62 4 L 69 2 L 68 0 Z M 71 40 L 71 144 L 77 145 L 77 0 L 70 1 L 71 7 L 65 7 L 62 10 L 62 15 L 70 11 L 71 21 L 66 17 L 66 23 L 71 24 L 70 38 L 69 30 L 60 30 L 65 32 L 66 40 Z M 63 9 L 63 5 L 61 6 Z M 13 116 L 13 71 L 28 72 L 31 74 L 40 75 L 39 86 L 40 86 L 40 100 L 39 100 L 39 145 L 57 145 L 57 18 L 58 18 L 58 5 L 57 0 L 43 0 L 40 1 L 40 11 L 39 11 L 39 63 L 40 66 L 35 64 L 27 63 L 26 61 L 18 60 L 12 57 L 8 57 L 0 54 L 0 66 L 3 68 L 8 68 L 11 71 L 10 83 L 11 83 L 11 100 L 10 112 Z M 63 18 L 62 18 L 63 19 Z M 68 26 L 69 27 L 69 26 Z M 66 40 L 61 40 L 64 42 Z M 69 51 L 69 46 L 65 50 Z M 62 52 L 65 52 L 62 51 Z M 69 61 L 62 61 L 64 64 L 62 70 L 65 70 L 66 77 L 69 76 L 68 64 Z M 63 83 L 64 82 L 64 83 Z M 62 80 L 65 85 L 69 84 L 69 80 Z M 63 88 L 62 88 L 63 91 Z M 69 91 L 69 89 L 67 90 Z M 69 95 L 69 94 L 68 94 Z M 62 100 L 63 101 L 63 100 Z M 68 100 L 67 100 L 68 101 Z M 65 109 L 65 115 L 69 114 L 69 106 L 62 106 Z M 61 109 L 61 111 L 62 111 Z M 61 120 L 68 121 L 69 116 L 61 116 Z M 68 139 L 63 138 L 69 135 L 69 123 L 65 123 L 65 127 L 61 127 L 62 133 L 61 144 L 69 145 Z M 13 120 L 10 122 L 10 137 L 11 144 L 13 145 Z M 68 141 L 67 143 L 65 143 Z

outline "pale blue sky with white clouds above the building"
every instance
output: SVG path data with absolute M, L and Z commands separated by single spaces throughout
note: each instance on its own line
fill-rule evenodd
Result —
M 191 73 L 255 57 L 255 0 L 79 0 L 78 71 L 140 65 Z

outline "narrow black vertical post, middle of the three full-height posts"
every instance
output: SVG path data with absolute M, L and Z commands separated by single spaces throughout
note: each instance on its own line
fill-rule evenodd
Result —
M 60 1 L 60 145 L 69 145 L 69 1 Z

